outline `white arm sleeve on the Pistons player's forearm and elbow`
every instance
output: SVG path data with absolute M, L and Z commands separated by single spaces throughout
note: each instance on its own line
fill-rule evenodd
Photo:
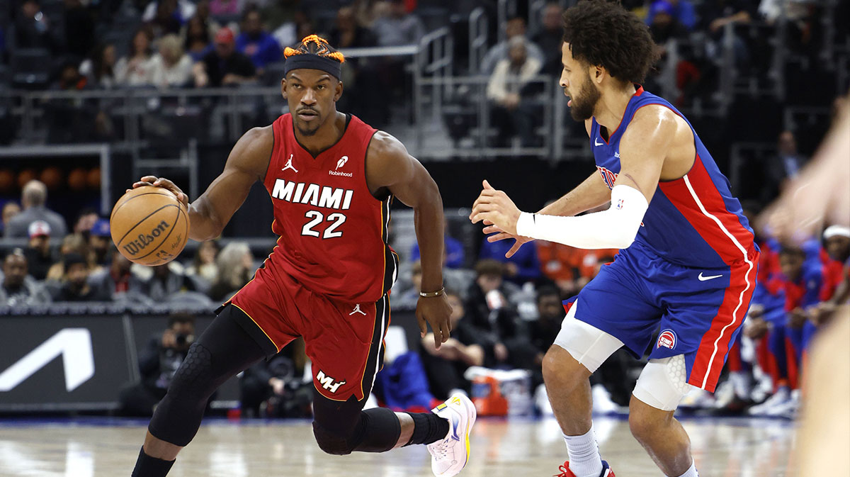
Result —
M 611 207 L 581 217 L 520 213 L 517 235 L 555 241 L 579 248 L 626 248 L 640 230 L 649 202 L 640 190 L 616 185 Z

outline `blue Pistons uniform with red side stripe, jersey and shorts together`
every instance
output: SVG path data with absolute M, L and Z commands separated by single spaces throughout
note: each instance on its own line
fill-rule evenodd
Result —
M 593 156 L 609 188 L 620 173 L 620 139 L 638 109 L 660 105 L 684 119 L 665 99 L 636 88 L 608 139 L 592 120 Z M 750 306 L 759 252 L 728 180 L 691 131 L 694 166 L 658 184 L 632 246 L 565 306 L 575 301 L 575 319 L 620 339 L 635 356 L 650 344 L 650 359 L 684 355 L 688 383 L 713 391 Z

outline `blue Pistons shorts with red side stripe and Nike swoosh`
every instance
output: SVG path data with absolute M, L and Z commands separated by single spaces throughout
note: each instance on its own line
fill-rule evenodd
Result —
M 637 358 L 650 345 L 649 359 L 684 355 L 688 383 L 713 392 L 750 308 L 758 256 L 753 250 L 747 261 L 697 269 L 636 243 L 564 306 L 580 304 L 576 319 L 618 338 Z

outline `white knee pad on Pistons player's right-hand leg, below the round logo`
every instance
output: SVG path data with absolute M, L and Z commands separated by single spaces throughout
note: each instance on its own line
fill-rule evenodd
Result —
M 632 395 L 661 411 L 675 411 L 682 398 L 694 389 L 687 378 L 684 355 L 649 360 Z

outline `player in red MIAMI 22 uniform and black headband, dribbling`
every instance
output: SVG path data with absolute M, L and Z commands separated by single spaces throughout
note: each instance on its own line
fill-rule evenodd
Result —
M 285 57 L 280 90 L 292 112 L 245 133 L 224 172 L 195 202 L 167 179 L 146 176 L 133 185 L 173 191 L 189 207 L 190 238 L 206 241 L 221 234 L 260 180 L 274 203 L 272 230 L 280 236 L 253 280 L 218 309 L 190 348 L 150 420 L 133 477 L 166 475 L 195 436 L 212 392 L 299 336 L 312 361 L 313 429 L 322 451 L 427 444 L 434 474 L 455 475 L 467 463 L 475 421 L 466 396 L 452 396 L 428 413 L 363 411 L 382 364 L 388 291 L 398 269 L 387 243 L 393 196 L 416 211 L 422 335 L 428 322 L 438 347 L 449 338 L 437 185 L 393 136 L 337 112 L 342 54 L 313 35 L 286 48 Z

